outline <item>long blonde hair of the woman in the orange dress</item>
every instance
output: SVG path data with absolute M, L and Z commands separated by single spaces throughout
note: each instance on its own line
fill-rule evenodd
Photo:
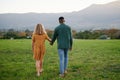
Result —
M 42 24 L 37 24 L 37 26 L 34 29 L 33 34 L 38 34 L 38 35 L 46 34 L 44 26 Z

